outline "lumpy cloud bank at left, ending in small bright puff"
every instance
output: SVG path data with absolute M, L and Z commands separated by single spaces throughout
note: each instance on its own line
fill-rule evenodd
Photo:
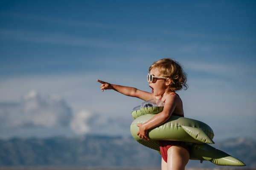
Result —
M 0 103 L 0 129 L 2 132 L 22 129 L 29 133 L 34 128 L 70 128 L 74 133 L 82 135 L 90 132 L 87 121 L 91 115 L 86 110 L 74 114 L 58 95 L 41 96 L 31 91 L 18 102 Z

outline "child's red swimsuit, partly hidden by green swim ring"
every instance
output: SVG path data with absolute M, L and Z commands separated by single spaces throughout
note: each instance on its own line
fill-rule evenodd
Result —
M 171 95 L 174 95 L 174 94 L 177 94 L 177 93 L 172 93 Z M 178 115 L 178 114 L 172 113 L 172 115 L 184 117 L 184 114 Z M 186 142 L 184 142 L 184 141 L 159 141 L 159 145 L 160 145 L 160 152 L 161 152 L 162 158 L 166 163 L 167 163 L 167 151 L 172 146 L 183 147 L 184 149 L 186 149 L 189 152 L 189 147 L 186 145 Z

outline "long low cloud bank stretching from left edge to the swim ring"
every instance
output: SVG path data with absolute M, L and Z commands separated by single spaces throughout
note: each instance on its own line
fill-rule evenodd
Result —
M 17 102 L 0 102 L 0 138 L 127 135 L 130 121 L 125 120 L 85 109 L 73 112 L 60 96 L 42 96 L 34 90 Z

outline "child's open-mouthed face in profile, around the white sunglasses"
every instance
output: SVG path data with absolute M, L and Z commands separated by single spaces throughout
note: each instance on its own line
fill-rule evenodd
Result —
M 158 69 L 151 69 L 150 74 L 162 77 Z M 154 93 L 154 96 L 163 95 L 163 93 L 166 92 L 166 90 L 168 89 L 168 86 L 166 86 L 166 83 L 163 81 L 163 78 L 154 78 L 152 82 L 148 83 L 152 89 L 151 92 Z

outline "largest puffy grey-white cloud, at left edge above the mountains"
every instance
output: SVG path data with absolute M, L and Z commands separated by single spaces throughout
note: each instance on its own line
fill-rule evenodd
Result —
M 1 104 L 0 127 L 66 127 L 72 112 L 66 102 L 57 95 L 42 97 L 29 92 L 15 105 Z

